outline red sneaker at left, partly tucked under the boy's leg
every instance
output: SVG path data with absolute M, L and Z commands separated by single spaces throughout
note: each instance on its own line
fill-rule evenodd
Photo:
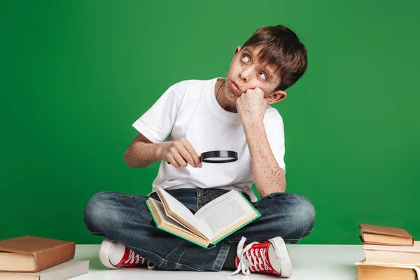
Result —
M 111 269 L 146 265 L 148 269 L 155 268 L 155 265 L 141 257 L 141 255 L 134 253 L 134 251 L 117 241 L 111 241 L 106 238 L 102 241 L 101 248 L 99 248 L 99 260 L 101 260 L 102 265 Z

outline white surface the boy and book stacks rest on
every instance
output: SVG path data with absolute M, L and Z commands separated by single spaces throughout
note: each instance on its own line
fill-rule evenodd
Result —
M 362 245 L 299 245 L 287 244 L 293 265 L 289 279 L 356 280 L 354 262 L 363 260 Z M 146 267 L 108 269 L 99 261 L 99 245 L 76 245 L 75 260 L 90 260 L 89 273 L 71 280 L 186 280 L 186 279 L 274 279 L 274 275 L 252 273 L 227 278 L 228 270 L 221 272 L 183 272 L 148 270 Z M 275 277 L 277 278 L 277 277 Z

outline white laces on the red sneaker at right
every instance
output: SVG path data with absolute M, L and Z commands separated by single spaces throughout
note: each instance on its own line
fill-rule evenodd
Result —
M 245 237 L 241 238 L 237 248 L 237 256 L 239 258 L 239 265 L 235 272 L 232 272 L 228 276 L 238 274 L 241 270 L 245 275 L 250 274 L 251 271 L 262 271 L 262 270 L 271 270 L 265 259 L 266 248 L 260 248 L 259 250 L 251 249 L 253 244 L 258 244 L 258 242 L 252 242 L 244 248 Z M 251 249 L 251 251 L 250 251 Z

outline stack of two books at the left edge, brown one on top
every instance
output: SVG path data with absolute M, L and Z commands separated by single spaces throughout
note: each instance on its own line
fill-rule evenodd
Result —
M 72 241 L 22 236 L 0 241 L 0 280 L 66 280 L 89 270 L 89 260 L 73 260 Z

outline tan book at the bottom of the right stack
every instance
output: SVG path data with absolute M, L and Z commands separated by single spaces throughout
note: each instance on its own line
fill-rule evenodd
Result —
M 356 262 L 358 280 L 416 280 L 420 268 L 414 265 L 389 265 L 369 263 L 361 260 Z

